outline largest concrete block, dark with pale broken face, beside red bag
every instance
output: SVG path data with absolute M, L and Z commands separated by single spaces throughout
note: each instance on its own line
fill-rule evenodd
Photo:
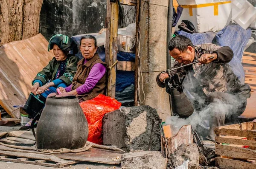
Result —
M 148 150 L 152 121 L 160 118 L 150 106 L 127 107 L 107 113 L 102 121 L 103 144 L 115 145 L 126 152 Z M 160 127 L 154 125 L 160 135 Z M 160 150 L 160 136 L 152 132 L 151 150 Z

